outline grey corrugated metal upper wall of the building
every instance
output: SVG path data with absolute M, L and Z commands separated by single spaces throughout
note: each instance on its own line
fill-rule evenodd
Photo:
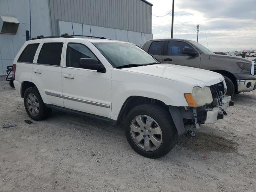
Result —
M 152 33 L 152 6 L 142 0 L 49 0 L 52 35 L 58 20 Z

